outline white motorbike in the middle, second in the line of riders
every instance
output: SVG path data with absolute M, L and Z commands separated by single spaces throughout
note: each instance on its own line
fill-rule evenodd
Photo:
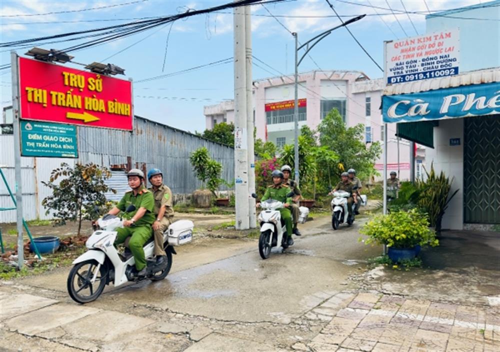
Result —
M 292 196 L 293 192 L 287 194 L 287 197 Z M 256 198 L 257 195 L 253 193 L 252 197 Z M 279 209 L 283 208 L 283 203 L 274 199 L 267 199 L 260 203 L 260 208 L 263 210 L 258 214 L 257 218 L 260 223 L 258 253 L 262 259 L 267 259 L 272 247 L 279 245 L 283 250 L 288 248 L 288 235 L 286 225 L 279 212 Z

